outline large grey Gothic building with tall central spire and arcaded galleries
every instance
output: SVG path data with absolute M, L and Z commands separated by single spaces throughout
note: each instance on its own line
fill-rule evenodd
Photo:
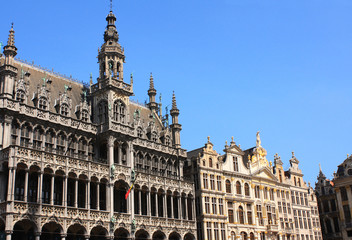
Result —
M 112 11 L 106 20 L 89 86 L 15 59 L 10 30 L 0 60 L 1 239 L 195 239 L 175 95 L 171 125 L 152 76 L 149 103 L 130 100 Z

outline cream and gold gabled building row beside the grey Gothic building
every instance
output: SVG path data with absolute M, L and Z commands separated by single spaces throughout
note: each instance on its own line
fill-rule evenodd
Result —
M 188 152 L 198 240 L 321 240 L 316 196 L 293 153 L 287 171 L 278 155 L 269 163 L 259 132 L 256 147 L 242 150 L 232 139 L 224 152 L 209 138 Z

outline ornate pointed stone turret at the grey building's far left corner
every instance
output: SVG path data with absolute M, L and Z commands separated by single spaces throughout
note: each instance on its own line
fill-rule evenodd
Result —
M 0 67 L 0 76 L 3 88 L 1 89 L 1 95 L 7 95 L 12 97 L 13 88 L 15 83 L 15 77 L 18 69 L 13 65 L 14 58 L 17 55 L 17 48 L 15 47 L 15 31 L 13 30 L 13 24 L 10 29 L 9 38 L 7 45 L 4 47 L 5 62 Z

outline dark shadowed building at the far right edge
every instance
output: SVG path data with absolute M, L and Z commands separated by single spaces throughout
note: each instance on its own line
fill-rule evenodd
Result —
M 352 239 L 352 156 L 329 180 L 319 171 L 315 184 L 323 239 Z

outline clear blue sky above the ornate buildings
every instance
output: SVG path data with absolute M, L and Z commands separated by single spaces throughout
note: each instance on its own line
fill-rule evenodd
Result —
M 175 90 L 188 150 L 261 132 L 268 159 L 295 151 L 312 184 L 352 153 L 351 0 L 114 0 L 125 76 L 164 106 Z M 89 81 L 98 75 L 109 1 L 1 2 L 0 41 L 15 23 L 18 57 Z

